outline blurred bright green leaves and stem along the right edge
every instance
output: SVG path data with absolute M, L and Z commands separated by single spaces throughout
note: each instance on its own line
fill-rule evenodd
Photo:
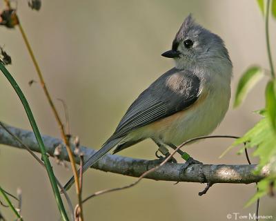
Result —
M 264 13 L 264 1 L 257 1 L 260 10 Z M 271 13 L 275 15 L 276 1 L 273 0 Z M 268 166 L 270 174 L 264 180 L 261 180 L 257 186 L 257 193 L 251 198 L 246 206 L 249 206 L 257 198 L 266 195 L 267 193 L 271 193 L 274 188 L 274 184 L 276 183 L 276 79 L 273 68 L 273 59 L 270 54 L 270 44 L 269 44 L 269 32 L 268 32 L 268 18 L 270 15 L 270 1 L 266 1 L 266 45 L 268 52 L 268 60 L 270 63 L 270 79 L 266 84 L 265 90 L 265 100 L 266 100 L 266 108 L 262 111 L 262 119 L 248 131 L 243 137 L 237 139 L 233 146 L 237 146 L 239 144 L 246 144 L 248 148 L 255 148 L 254 156 L 259 157 L 259 164 L 255 173 L 261 173 L 264 166 Z M 276 18 L 276 17 L 275 17 Z M 262 68 L 259 66 L 254 66 L 246 70 L 244 75 L 242 75 L 241 79 L 239 79 L 239 84 L 237 87 L 237 92 L 235 96 L 234 106 L 239 106 L 242 103 L 244 97 L 248 93 L 250 88 L 257 83 L 257 81 L 262 76 L 261 73 Z M 242 148 L 243 150 L 244 148 Z

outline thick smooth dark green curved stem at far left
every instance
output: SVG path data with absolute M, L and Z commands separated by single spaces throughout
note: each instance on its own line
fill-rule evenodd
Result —
M 59 207 L 59 211 L 61 213 L 61 216 L 62 216 L 63 220 L 68 220 L 68 216 L 66 214 L 66 210 L 64 209 L 63 202 L 61 200 L 61 195 L 60 195 L 59 189 L 57 187 L 57 181 L 56 181 L 56 178 L 55 178 L 55 175 L 54 175 L 54 171 L 52 171 L 52 166 L 50 164 L 50 160 L 48 159 L 48 155 L 46 153 L 46 148 L 44 146 L 41 134 L 39 132 L 39 128 L 37 127 L 37 123 L 34 120 L 34 116 L 32 115 L 32 111 L 31 111 L 30 106 L 29 106 L 29 104 L 26 100 L 26 97 L 23 95 L 22 90 L 19 88 L 19 85 L 14 80 L 12 75 L 10 75 L 8 70 L 5 68 L 5 66 L 3 66 L 3 64 L 1 64 L 1 62 L 0 62 L 0 70 L 5 75 L 5 77 L 8 79 L 8 81 L 10 81 L 10 84 L 14 88 L 14 90 L 17 93 L 19 99 L 21 100 L 21 103 L 23 104 L 23 107 L 24 107 L 24 109 L 26 111 L 26 114 L 28 116 L 28 119 L 30 121 L 30 125 L 32 126 L 32 131 L 34 131 L 34 135 L 36 137 L 37 143 L 39 144 L 39 148 L 41 149 L 41 157 L 42 157 L 42 160 L 43 160 L 43 162 L 46 166 L 48 176 L 50 178 L 50 182 L 51 182 L 51 185 L 52 185 L 52 190 L 54 191 L 55 198 L 56 198 L 56 201 L 57 201 L 57 206 Z

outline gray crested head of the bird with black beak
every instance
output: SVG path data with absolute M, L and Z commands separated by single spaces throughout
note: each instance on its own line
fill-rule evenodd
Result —
M 225 61 L 231 64 L 224 41 L 195 23 L 191 15 L 182 23 L 172 42 L 172 49 L 164 52 L 162 56 L 173 58 L 176 68 L 179 69 L 208 65 L 210 61 Z

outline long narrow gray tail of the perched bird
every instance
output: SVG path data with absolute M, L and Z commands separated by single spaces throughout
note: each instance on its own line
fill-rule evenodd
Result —
M 110 142 L 107 142 L 106 144 L 103 145 L 102 148 L 99 149 L 95 154 L 89 157 L 89 159 L 83 164 L 83 173 L 87 171 L 91 166 L 93 166 L 103 155 L 108 153 L 114 146 L 116 146 L 123 137 L 117 138 L 115 140 L 110 140 Z M 78 177 L 79 177 L 80 171 L 77 171 Z M 70 180 L 65 184 L 64 189 L 68 191 L 72 184 L 74 184 L 75 180 L 74 177 L 72 176 Z

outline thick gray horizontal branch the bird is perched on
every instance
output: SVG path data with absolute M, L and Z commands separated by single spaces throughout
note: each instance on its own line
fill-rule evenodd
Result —
M 40 148 L 35 140 L 32 131 L 26 131 L 13 126 L 6 127 L 23 141 L 32 151 L 40 153 Z M 69 161 L 66 147 L 63 142 L 55 137 L 43 135 L 43 142 L 46 146 L 47 153 L 54 157 L 55 148 L 61 147 L 61 160 Z M 16 148 L 23 148 L 13 137 L 11 137 L 2 127 L 0 127 L 0 144 L 6 144 Z M 71 146 L 73 149 L 74 147 Z M 80 146 L 80 151 L 83 153 L 84 160 L 87 160 L 90 155 L 96 151 L 92 148 Z M 79 157 L 76 157 L 76 162 L 79 164 Z M 119 173 L 132 177 L 139 177 L 152 167 L 160 164 L 158 160 L 141 160 L 130 157 L 122 157 L 119 155 L 107 154 L 93 166 L 101 171 Z M 208 182 L 208 183 L 233 183 L 233 184 L 250 184 L 259 182 L 262 178 L 268 175 L 268 169 L 264 168 L 260 175 L 253 174 L 256 165 L 224 165 L 224 164 L 194 164 L 189 166 L 186 171 L 183 171 L 184 164 L 167 163 L 161 168 L 148 174 L 146 178 L 152 180 L 165 180 L 175 182 Z

